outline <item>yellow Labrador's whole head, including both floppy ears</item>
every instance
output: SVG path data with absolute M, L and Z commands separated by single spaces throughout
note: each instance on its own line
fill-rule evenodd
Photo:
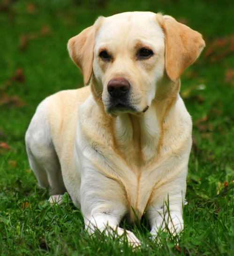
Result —
M 201 34 L 168 15 L 130 12 L 99 17 L 69 40 L 68 51 L 84 83 L 91 79 L 95 99 L 115 116 L 145 113 L 157 92 L 168 90 L 162 81 L 174 84 L 204 46 Z

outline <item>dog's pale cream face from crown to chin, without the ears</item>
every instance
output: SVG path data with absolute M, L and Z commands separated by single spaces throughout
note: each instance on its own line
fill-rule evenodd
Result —
M 96 32 L 93 72 L 107 113 L 144 113 L 163 76 L 164 33 L 153 13 L 104 18 Z

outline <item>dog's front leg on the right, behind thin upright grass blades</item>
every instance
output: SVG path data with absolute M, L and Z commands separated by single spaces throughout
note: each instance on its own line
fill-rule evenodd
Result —
M 154 191 L 154 197 L 147 207 L 151 234 L 169 231 L 173 235 L 183 230 L 183 203 L 186 192 L 187 167 L 175 179 L 164 183 Z

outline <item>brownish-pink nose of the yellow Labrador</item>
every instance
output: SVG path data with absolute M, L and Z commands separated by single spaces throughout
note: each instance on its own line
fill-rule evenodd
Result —
M 107 84 L 107 91 L 112 97 L 124 96 L 130 89 L 130 83 L 125 78 L 114 78 Z

